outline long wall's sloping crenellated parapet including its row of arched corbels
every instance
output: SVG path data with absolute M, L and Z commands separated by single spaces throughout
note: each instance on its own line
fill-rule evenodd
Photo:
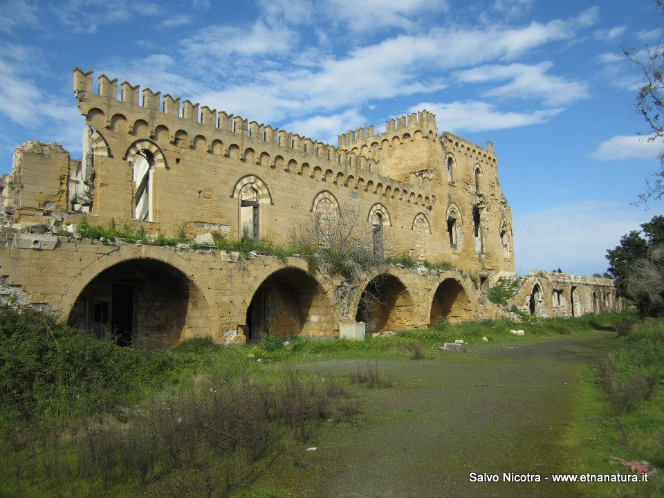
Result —
M 118 131 L 118 127 L 137 138 L 187 147 L 205 154 L 237 158 L 255 165 L 331 181 L 376 195 L 389 196 L 407 203 L 431 209 L 431 182 L 424 178 L 398 181 L 378 174 L 375 158 L 358 151 L 334 147 L 297 133 L 250 121 L 208 106 L 181 101 L 168 93 L 162 94 L 138 85 L 122 82 L 118 98 L 118 80 L 107 75 L 98 77 L 93 89 L 92 71 L 73 70 L 73 89 L 79 109 L 89 124 L 97 129 Z M 95 91 L 96 90 L 96 91 Z M 430 113 L 412 118 L 423 123 L 435 120 Z M 413 116 L 416 116 L 415 114 Z M 94 122 L 93 122 L 94 121 Z M 403 127 L 409 128 L 406 118 Z

